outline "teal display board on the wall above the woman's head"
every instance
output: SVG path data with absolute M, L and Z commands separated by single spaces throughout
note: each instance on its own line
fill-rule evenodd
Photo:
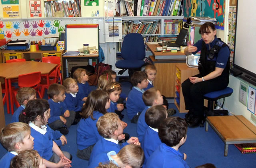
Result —
M 216 18 L 216 28 L 224 30 L 225 0 L 184 0 L 184 17 Z

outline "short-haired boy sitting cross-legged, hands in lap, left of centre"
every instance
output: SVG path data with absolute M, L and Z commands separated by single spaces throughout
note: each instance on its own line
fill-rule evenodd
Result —
M 68 130 L 66 127 L 70 127 L 74 122 L 76 113 L 69 111 L 68 107 L 64 103 L 66 98 L 66 88 L 60 84 L 51 84 L 48 88 L 47 94 L 50 97 L 48 103 L 50 104 L 50 118 L 48 119 L 48 125 L 53 130 L 58 130 L 62 134 L 66 135 Z

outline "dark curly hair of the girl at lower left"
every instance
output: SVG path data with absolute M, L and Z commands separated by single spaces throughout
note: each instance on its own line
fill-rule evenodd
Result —
M 28 101 L 26 108 L 20 113 L 19 120 L 23 123 L 29 123 L 36 120 L 39 115 L 42 123 L 44 123 L 44 112 L 50 108 L 50 105 L 45 99 L 34 99 Z M 46 123 L 45 123 L 46 124 Z

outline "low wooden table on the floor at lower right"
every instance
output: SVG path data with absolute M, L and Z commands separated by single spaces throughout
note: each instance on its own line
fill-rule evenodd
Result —
M 242 115 L 207 117 L 205 131 L 208 125 L 225 143 L 224 156 L 230 144 L 256 143 L 256 127 Z

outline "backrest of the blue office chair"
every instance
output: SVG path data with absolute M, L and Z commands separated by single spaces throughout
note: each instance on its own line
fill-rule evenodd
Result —
M 140 33 L 129 33 L 124 37 L 121 57 L 125 60 L 143 60 L 145 58 L 145 44 Z

